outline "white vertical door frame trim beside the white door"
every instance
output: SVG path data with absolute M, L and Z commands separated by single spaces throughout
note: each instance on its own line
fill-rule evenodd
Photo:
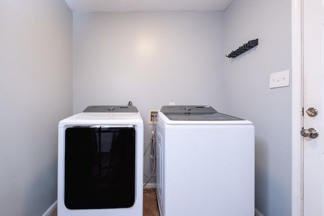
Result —
M 303 215 L 303 0 L 292 0 L 292 215 Z

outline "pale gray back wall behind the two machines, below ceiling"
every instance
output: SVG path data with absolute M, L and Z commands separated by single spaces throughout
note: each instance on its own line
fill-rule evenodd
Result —
M 223 112 L 223 15 L 73 13 L 73 112 L 132 101 L 145 123 L 144 146 L 149 109 L 175 102 Z M 148 158 L 144 172 L 150 173 Z

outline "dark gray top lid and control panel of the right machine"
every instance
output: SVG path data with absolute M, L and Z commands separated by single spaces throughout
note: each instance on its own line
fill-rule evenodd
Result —
M 163 106 L 160 112 L 175 121 L 233 121 L 244 120 L 217 112 L 211 106 Z

